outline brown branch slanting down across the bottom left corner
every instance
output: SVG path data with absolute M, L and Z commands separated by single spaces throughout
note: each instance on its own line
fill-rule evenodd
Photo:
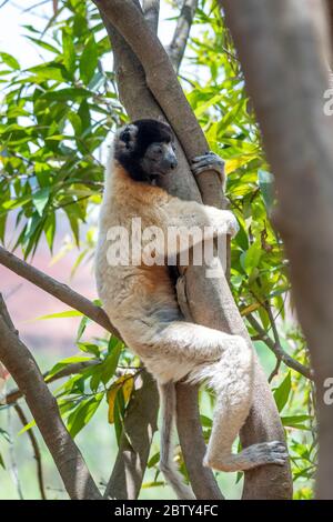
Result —
M 8 310 L 0 302 L 0 360 L 22 390 L 27 404 L 49 448 L 71 499 L 101 499 L 85 462 L 67 431 L 57 400 L 49 391 L 29 349 L 8 322 Z

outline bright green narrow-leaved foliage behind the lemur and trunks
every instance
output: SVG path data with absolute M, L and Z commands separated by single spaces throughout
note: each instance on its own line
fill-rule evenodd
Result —
M 228 195 L 241 225 L 232 244 L 232 291 L 244 318 L 254 314 L 275 342 L 278 334 L 285 351 L 309 364 L 304 339 L 292 317 L 289 263 L 271 222 L 274 180 L 242 70 L 219 10 L 210 0 L 199 3 L 180 81 L 211 149 L 226 162 Z M 44 234 L 52 252 L 58 221 L 65 215 L 73 242 L 81 248 L 79 264 L 94 245 L 91 217 L 101 198 L 101 147 L 127 118 L 115 92 L 109 40 L 93 4 L 80 0 L 59 1 L 57 16 L 42 32 L 31 26 L 24 30 L 27 39 L 48 58 L 22 69 L 16 57 L 0 54 L 4 92 L 0 239 L 11 249 L 20 247 L 28 258 Z M 9 215 L 16 222 L 14 237 L 7 232 Z M 89 231 L 82 238 L 85 222 Z M 109 422 L 119 438 L 140 372 L 138 360 L 113 337 L 82 342 L 85 325 L 83 318 L 77 339 L 80 355 L 58 362 L 49 377 L 68 364 L 89 361 L 91 365 L 56 391 L 61 413 L 75 436 L 107 400 Z M 265 369 L 272 371 L 276 361 L 248 325 Z M 312 496 L 316 455 L 312 384 L 283 363 L 278 370 L 272 387 L 287 433 L 295 496 L 307 499 Z M 208 438 L 211 405 L 204 411 L 202 424 Z M 159 454 L 152 454 L 149 468 L 157 470 L 158 460 Z M 145 485 L 160 484 L 157 472 L 155 481 Z

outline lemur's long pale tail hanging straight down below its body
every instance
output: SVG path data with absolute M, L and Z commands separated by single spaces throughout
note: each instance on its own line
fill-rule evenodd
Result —
M 175 420 L 175 388 L 173 382 L 159 384 L 162 411 L 160 470 L 179 500 L 195 500 L 193 491 L 184 484 L 172 456 L 172 429 Z

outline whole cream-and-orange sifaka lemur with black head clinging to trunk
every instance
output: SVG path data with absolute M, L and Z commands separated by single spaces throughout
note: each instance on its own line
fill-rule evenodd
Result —
M 138 120 L 117 132 L 100 212 L 95 277 L 112 324 L 158 382 L 162 406 L 160 469 L 179 499 L 193 499 L 172 459 L 176 381 L 204 382 L 216 395 L 204 465 L 220 471 L 250 470 L 269 463 L 282 465 L 287 455 L 279 441 L 232 453 L 232 443 L 251 408 L 252 351 L 241 337 L 184 319 L 167 263 L 167 254 L 179 253 L 181 242 L 168 243 L 163 263 L 145 263 L 143 259 L 135 264 L 110 262 L 108 249 L 110 238 L 114 239 L 110 230 L 130 230 L 134 218 L 141 219 L 142 229 L 155 227 L 165 235 L 170 228 L 185 235 L 199 227 L 201 241 L 238 232 L 232 212 L 183 201 L 157 185 L 159 177 L 175 175 L 176 165 L 174 135 L 168 124 Z M 224 175 L 218 155 L 210 152 L 193 159 L 194 174 L 212 169 Z M 193 244 L 188 241 L 188 248 Z

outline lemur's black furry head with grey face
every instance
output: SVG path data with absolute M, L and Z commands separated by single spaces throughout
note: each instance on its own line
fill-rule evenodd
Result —
M 114 159 L 134 181 L 152 183 L 178 165 L 171 128 L 158 120 L 137 120 L 120 129 Z

